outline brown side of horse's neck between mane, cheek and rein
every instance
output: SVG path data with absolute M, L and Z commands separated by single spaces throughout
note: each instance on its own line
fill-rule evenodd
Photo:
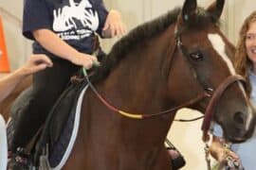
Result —
M 167 88 L 163 68 L 168 64 L 164 58 L 170 58 L 165 56 L 174 45 L 170 32 L 174 32 L 174 26 L 138 44 L 101 83 L 101 92 L 124 109 L 148 113 L 162 110 Z

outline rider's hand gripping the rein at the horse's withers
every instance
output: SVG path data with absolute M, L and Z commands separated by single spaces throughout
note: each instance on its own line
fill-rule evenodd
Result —
M 72 58 L 71 62 L 76 65 L 81 65 L 85 69 L 90 69 L 94 64 L 99 63 L 96 57 L 80 52 Z

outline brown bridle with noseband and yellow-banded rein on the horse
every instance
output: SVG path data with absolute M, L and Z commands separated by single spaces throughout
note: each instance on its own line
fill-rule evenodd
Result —
M 174 59 L 174 52 L 176 49 L 180 50 L 181 53 L 183 54 L 183 56 L 186 57 L 186 54 L 184 53 L 184 45 L 181 42 L 181 30 L 178 30 L 177 25 L 175 26 L 174 29 L 174 37 L 175 37 L 175 44 L 174 44 L 174 48 L 171 51 L 171 62 L 170 62 L 170 67 L 172 66 L 172 62 Z M 235 82 L 246 82 L 246 79 L 243 76 L 239 76 L 239 75 L 232 75 L 232 76 L 228 76 L 215 90 L 211 89 L 211 88 L 205 88 L 205 86 L 200 83 L 200 81 L 198 80 L 197 77 L 195 77 L 197 79 L 197 81 L 199 81 L 199 83 L 201 84 L 202 87 L 204 87 L 203 89 L 203 93 L 198 94 L 197 96 L 195 96 L 194 98 L 190 99 L 189 101 L 176 106 L 172 109 L 168 109 L 168 110 L 162 110 L 156 113 L 152 113 L 152 114 L 141 114 L 141 113 L 131 113 L 128 111 L 124 111 L 124 110 L 119 110 L 118 108 L 116 108 L 115 106 L 111 105 L 105 98 L 102 97 L 102 95 L 100 93 L 98 93 L 97 89 L 94 87 L 94 85 L 91 83 L 91 81 L 89 80 L 89 77 L 87 76 L 86 70 L 84 68 L 82 68 L 82 72 L 85 76 L 85 79 L 87 80 L 88 86 L 91 88 L 91 90 L 98 96 L 98 98 L 101 100 L 101 102 L 109 109 L 109 110 L 113 110 L 115 112 L 118 112 L 119 114 L 121 114 L 122 116 L 125 116 L 127 118 L 131 118 L 131 119 L 146 119 L 146 118 L 153 118 L 156 116 L 161 116 L 164 114 L 169 114 L 172 113 L 175 110 L 179 110 L 181 108 L 185 108 L 185 107 L 189 107 L 192 106 L 193 104 L 202 101 L 205 98 L 210 98 L 210 102 L 207 106 L 205 115 L 204 115 L 204 120 L 203 120 L 203 124 L 202 124 L 202 130 L 203 130 L 203 141 L 208 141 L 209 140 L 209 136 L 208 136 L 208 131 L 210 129 L 210 122 L 213 116 L 213 112 L 214 112 L 214 108 L 216 107 L 220 97 L 222 96 L 222 94 L 229 88 L 229 86 Z

